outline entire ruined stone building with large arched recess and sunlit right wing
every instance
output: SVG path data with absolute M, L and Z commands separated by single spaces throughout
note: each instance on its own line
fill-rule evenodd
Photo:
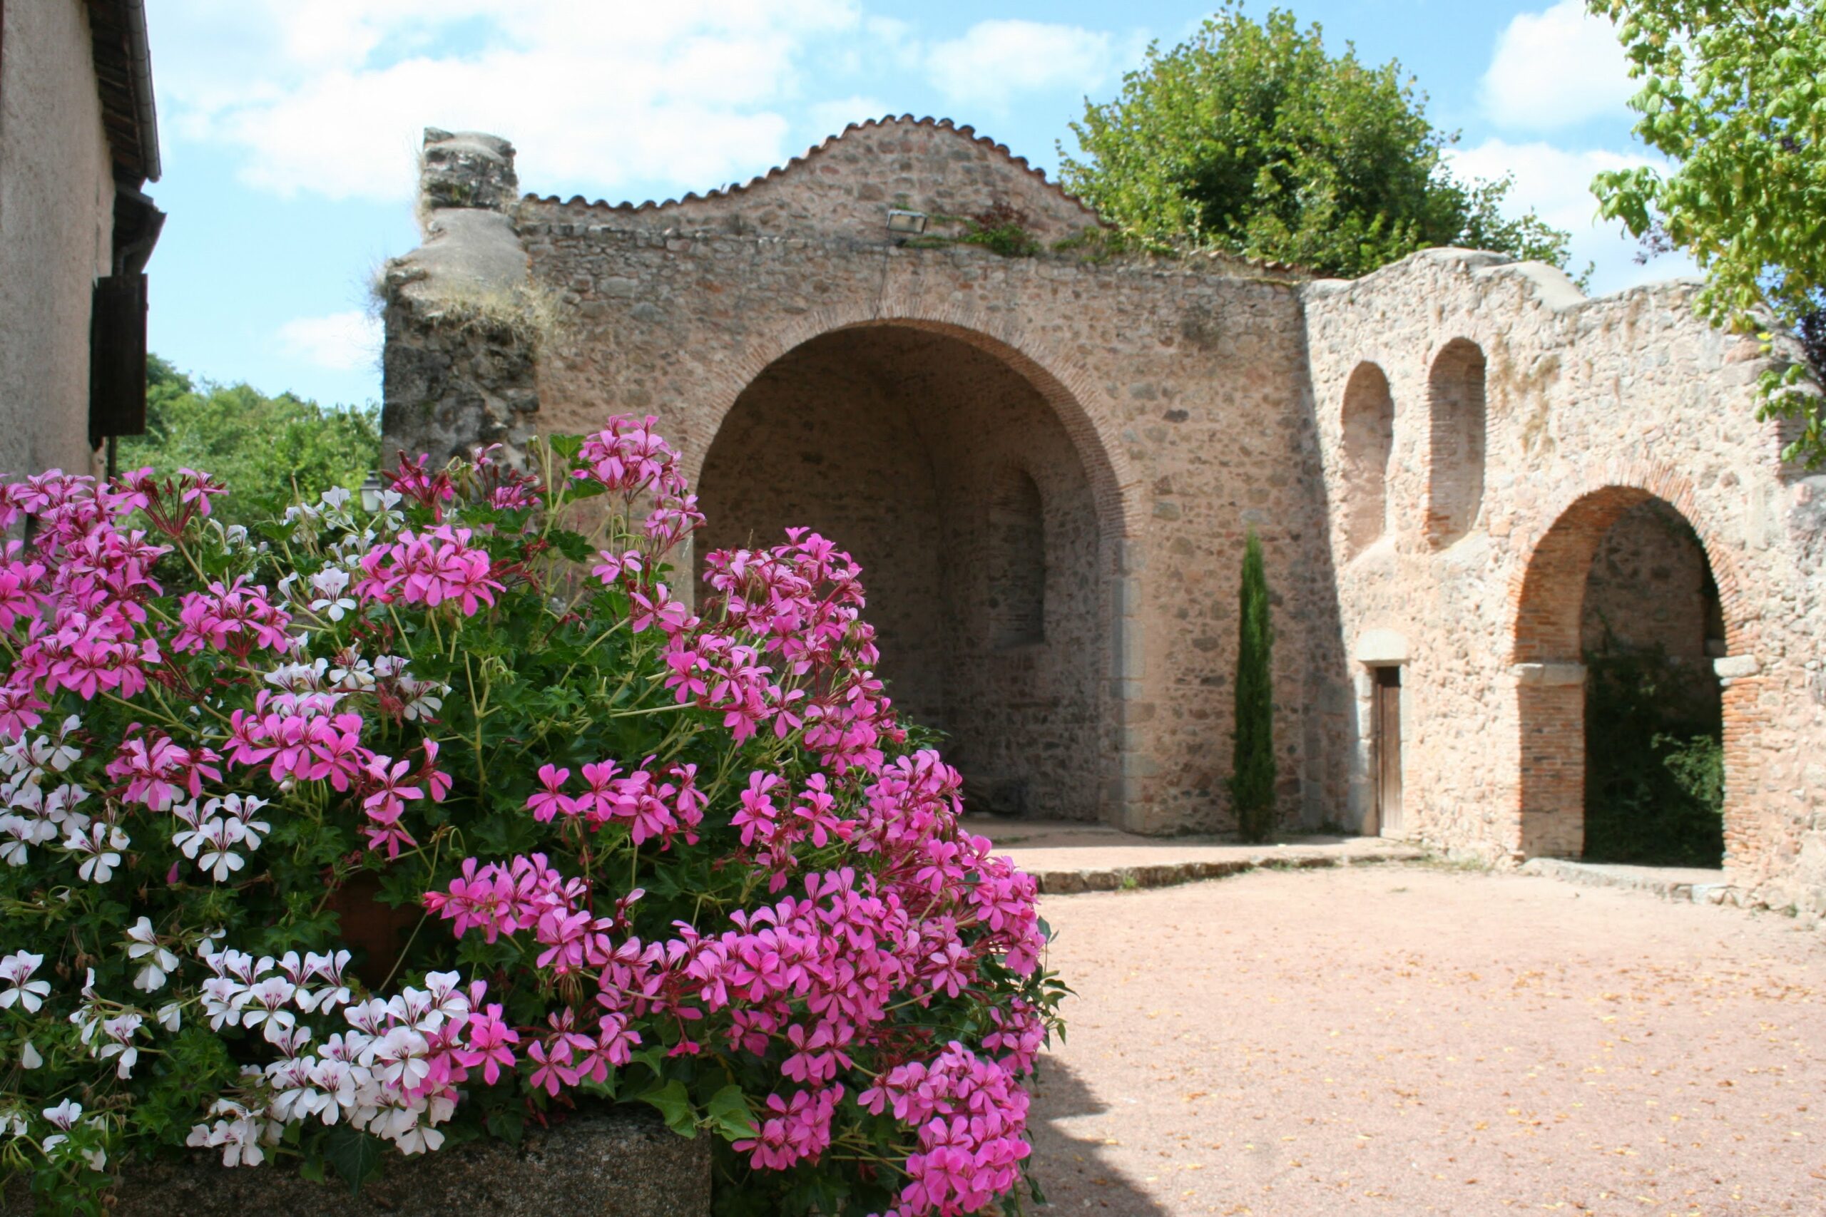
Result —
M 699 556 L 789 524 L 856 555 L 882 675 L 979 810 L 1231 827 L 1254 529 L 1286 823 L 1576 858 L 1611 629 L 1722 699 L 1731 881 L 1826 914 L 1826 478 L 1757 418 L 1791 350 L 1695 319 L 1691 283 L 1108 255 L 1043 173 L 911 117 L 661 204 L 520 197 L 473 133 L 427 131 L 424 182 L 389 452 L 657 414 Z M 1037 252 L 960 239 L 1006 223 Z

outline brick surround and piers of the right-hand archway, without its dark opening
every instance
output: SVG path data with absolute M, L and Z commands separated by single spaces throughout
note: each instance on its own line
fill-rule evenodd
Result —
M 1523 854 L 1579 858 L 1585 848 L 1585 650 L 1592 640 L 1594 626 L 1587 591 L 1594 584 L 1594 562 L 1600 551 L 1616 540 L 1614 529 L 1620 524 L 1665 516 L 1693 525 L 1702 551 L 1698 558 L 1704 566 L 1702 575 L 1715 580 L 1711 584 L 1716 589 L 1713 611 L 1722 617 L 1718 633 L 1724 635 L 1718 650 L 1737 655 L 1744 646 L 1742 629 L 1731 615 L 1735 578 L 1720 564 L 1724 555 L 1707 540 L 1704 527 L 1689 513 L 1689 494 L 1676 494 L 1671 502 L 1638 485 L 1605 485 L 1567 505 L 1534 546 L 1516 598 L 1512 635 L 1519 726 L 1517 848 Z M 1631 593 L 1627 588 L 1623 591 Z M 1640 597 L 1642 591 L 1645 589 L 1634 589 L 1634 595 Z M 1647 637 L 1649 626 L 1653 622 L 1638 622 L 1636 628 Z M 1696 661 L 1709 664 L 1711 657 L 1700 650 Z M 1724 814 L 1727 848 L 1733 837 L 1744 837 L 1746 825 L 1742 821 L 1749 814 L 1744 799 L 1733 797 L 1738 786 L 1738 774 L 1733 770 L 1742 763 L 1751 741 L 1744 737 L 1742 730 L 1733 732 L 1729 726 L 1733 721 L 1747 721 L 1742 704 L 1733 706 L 1733 702 L 1744 702 L 1749 695 L 1749 690 L 1733 693 L 1731 682 L 1726 682 Z M 1726 861 L 1729 863 L 1729 854 Z

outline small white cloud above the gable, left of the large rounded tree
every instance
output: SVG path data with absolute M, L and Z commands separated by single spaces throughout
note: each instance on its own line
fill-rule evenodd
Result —
M 1001 109 L 1015 93 L 1094 89 L 1118 68 L 1107 33 L 1043 22 L 977 22 L 926 55 L 933 86 L 957 104 Z

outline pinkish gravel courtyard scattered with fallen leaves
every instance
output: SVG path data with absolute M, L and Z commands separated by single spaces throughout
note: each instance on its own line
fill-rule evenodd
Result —
M 1826 1213 L 1826 936 L 1788 918 L 1395 865 L 1043 914 L 1050 1212 Z

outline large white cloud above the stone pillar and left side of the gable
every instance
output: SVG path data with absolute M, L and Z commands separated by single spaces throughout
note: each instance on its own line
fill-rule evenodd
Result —
M 425 126 L 506 135 L 522 179 L 705 190 L 776 164 L 816 38 L 856 0 L 153 0 L 161 117 L 252 186 L 405 199 Z M 792 150 L 798 151 L 798 150 Z

